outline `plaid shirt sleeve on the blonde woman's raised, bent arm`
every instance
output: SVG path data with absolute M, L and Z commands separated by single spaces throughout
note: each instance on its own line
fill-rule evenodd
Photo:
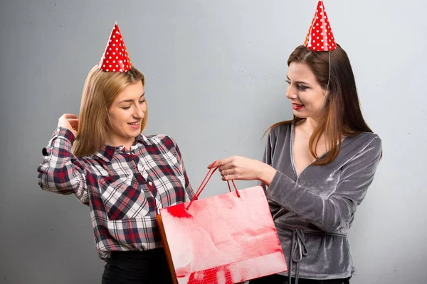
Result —
M 61 195 L 75 194 L 83 204 L 89 203 L 85 165 L 73 155 L 75 137 L 68 129 L 58 127 L 48 146 L 43 148 L 43 160 L 38 165 L 38 185 Z

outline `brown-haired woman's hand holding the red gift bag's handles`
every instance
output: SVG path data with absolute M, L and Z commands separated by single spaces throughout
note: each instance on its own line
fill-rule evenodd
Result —
M 277 170 L 259 160 L 240 156 L 231 156 L 217 160 L 208 168 L 219 167 L 222 180 L 260 180 L 265 185 L 270 185 Z

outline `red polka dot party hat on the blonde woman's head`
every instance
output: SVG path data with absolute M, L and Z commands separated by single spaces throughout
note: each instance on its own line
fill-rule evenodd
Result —
M 123 41 L 117 22 L 112 28 L 110 39 L 98 67 L 105 72 L 127 72 L 132 68 L 125 41 Z

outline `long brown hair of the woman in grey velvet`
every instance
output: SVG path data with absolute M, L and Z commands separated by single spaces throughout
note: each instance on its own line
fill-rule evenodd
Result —
M 288 66 L 291 62 L 306 64 L 315 74 L 322 89 L 329 90 L 327 111 L 317 124 L 309 142 L 310 153 L 316 159 L 314 164 L 326 165 L 337 158 L 341 149 L 342 136 L 357 136 L 362 132 L 372 132 L 360 110 L 352 65 L 347 53 L 339 45 L 331 51 L 312 51 L 300 45 L 290 54 Z M 290 121 L 273 124 L 268 131 L 281 124 L 299 120 L 301 118 L 294 116 Z M 328 152 L 324 158 L 320 159 L 316 148 L 322 135 L 325 136 Z

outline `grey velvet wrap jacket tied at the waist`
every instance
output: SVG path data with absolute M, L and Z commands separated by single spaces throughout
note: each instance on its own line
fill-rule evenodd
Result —
M 297 177 L 293 133 L 294 123 L 275 127 L 263 158 L 278 170 L 266 196 L 288 263 L 283 275 L 348 278 L 354 267 L 347 232 L 374 180 L 381 139 L 367 132 L 344 138 L 332 163 L 308 165 Z

